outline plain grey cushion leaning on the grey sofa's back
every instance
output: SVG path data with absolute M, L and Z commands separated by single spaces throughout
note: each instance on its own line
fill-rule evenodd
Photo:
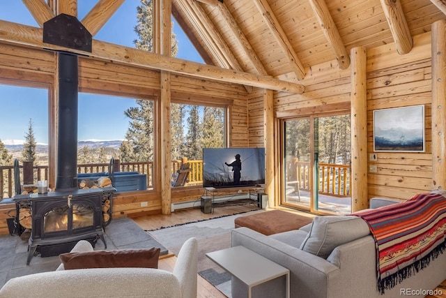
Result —
M 300 249 L 321 258 L 337 246 L 365 237 L 370 233 L 369 225 L 356 216 L 318 216 L 302 242 Z

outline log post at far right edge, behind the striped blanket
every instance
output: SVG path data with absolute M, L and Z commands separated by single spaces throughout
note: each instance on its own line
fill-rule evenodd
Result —
M 432 182 L 446 189 L 446 21 L 432 24 Z

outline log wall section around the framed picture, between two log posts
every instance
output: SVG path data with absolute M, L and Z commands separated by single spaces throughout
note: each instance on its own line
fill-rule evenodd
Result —
M 377 152 L 378 172 L 368 174 L 369 198 L 409 199 L 433 190 L 431 148 L 431 33 L 414 37 L 409 54 L 399 55 L 394 44 L 367 52 L 367 151 L 374 152 L 373 111 L 424 105 L 424 153 Z

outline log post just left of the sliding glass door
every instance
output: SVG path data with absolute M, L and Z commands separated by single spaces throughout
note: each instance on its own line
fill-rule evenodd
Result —
M 274 100 L 272 90 L 263 94 L 263 121 L 265 125 L 263 142 L 265 144 L 265 192 L 268 194 L 268 206 L 277 206 L 275 200 L 274 166 Z

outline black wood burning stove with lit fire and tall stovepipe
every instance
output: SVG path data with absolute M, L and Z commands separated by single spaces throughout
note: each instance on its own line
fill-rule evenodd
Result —
M 17 195 L 20 210 L 31 212 L 31 237 L 28 258 L 66 253 L 79 240 L 105 244 L 102 202 L 112 200 L 114 188 L 79 189 L 77 186 L 77 90 L 78 58 L 58 53 L 59 57 L 59 132 L 57 146 L 56 190 L 46 194 Z M 107 244 L 105 244 L 107 248 Z

